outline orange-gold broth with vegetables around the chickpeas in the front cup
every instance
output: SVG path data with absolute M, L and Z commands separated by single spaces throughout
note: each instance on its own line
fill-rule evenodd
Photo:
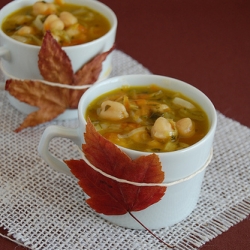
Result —
M 177 97 L 193 107 L 190 109 L 175 104 Z M 101 104 L 107 100 L 123 104 L 129 116 L 116 121 L 101 118 Z M 162 111 L 159 108 L 161 106 L 169 109 Z M 85 118 L 87 117 L 96 130 L 114 144 L 144 152 L 168 152 L 189 147 L 201 140 L 209 129 L 208 117 L 198 104 L 181 93 L 161 89 L 153 84 L 149 87 L 123 86 L 105 93 L 92 101 L 86 110 Z M 174 124 L 189 117 L 195 124 L 195 132 L 191 137 L 184 138 L 177 131 L 169 140 L 158 141 L 152 138 L 150 131 L 159 117 L 164 117 Z

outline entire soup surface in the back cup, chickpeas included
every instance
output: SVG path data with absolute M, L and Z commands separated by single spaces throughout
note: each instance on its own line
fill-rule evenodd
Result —
M 93 41 L 109 29 L 109 21 L 100 13 L 62 0 L 38 1 L 7 16 L 2 23 L 5 34 L 33 45 L 42 44 L 47 30 L 61 46 L 72 46 Z

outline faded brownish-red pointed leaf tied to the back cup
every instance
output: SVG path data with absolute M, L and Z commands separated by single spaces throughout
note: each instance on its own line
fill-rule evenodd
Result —
M 47 31 L 39 51 L 38 67 L 43 78 L 50 82 L 78 86 L 93 84 L 102 70 L 102 62 L 112 50 L 113 48 L 97 55 L 74 74 L 69 57 Z M 9 79 L 6 81 L 5 90 L 19 101 L 38 107 L 38 111 L 29 114 L 15 130 L 20 132 L 24 128 L 51 121 L 66 109 L 77 108 L 86 89 L 71 90 L 46 85 L 36 80 Z

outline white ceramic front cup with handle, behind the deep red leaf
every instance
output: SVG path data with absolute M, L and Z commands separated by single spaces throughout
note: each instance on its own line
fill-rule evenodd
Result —
M 148 228 L 157 229 L 171 226 L 186 218 L 195 208 L 201 189 L 205 167 L 211 159 L 212 144 L 215 134 L 217 115 L 208 97 L 195 87 L 173 78 L 157 75 L 118 76 L 94 85 L 80 99 L 78 106 L 79 127 L 76 129 L 49 126 L 44 131 L 38 151 L 41 157 L 55 170 L 70 174 L 67 165 L 49 152 L 49 143 L 54 137 L 65 137 L 74 141 L 80 148 L 84 143 L 86 108 L 99 95 L 117 89 L 123 85 L 145 86 L 156 84 L 162 88 L 181 92 L 198 103 L 209 119 L 209 132 L 196 144 L 174 152 L 157 153 L 165 173 L 164 183 L 167 191 L 158 203 L 145 210 L 135 212 L 135 216 Z M 132 159 L 150 153 L 120 147 Z M 139 229 L 141 226 L 128 214 L 105 216 L 103 218 L 117 225 Z

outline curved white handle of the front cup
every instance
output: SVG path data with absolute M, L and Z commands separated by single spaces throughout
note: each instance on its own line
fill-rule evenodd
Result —
M 71 175 L 70 169 L 61 159 L 58 159 L 49 151 L 49 143 L 54 137 L 64 137 L 72 140 L 76 145 L 81 145 L 77 129 L 65 128 L 57 125 L 47 127 L 40 139 L 38 153 L 53 169 L 66 175 Z

